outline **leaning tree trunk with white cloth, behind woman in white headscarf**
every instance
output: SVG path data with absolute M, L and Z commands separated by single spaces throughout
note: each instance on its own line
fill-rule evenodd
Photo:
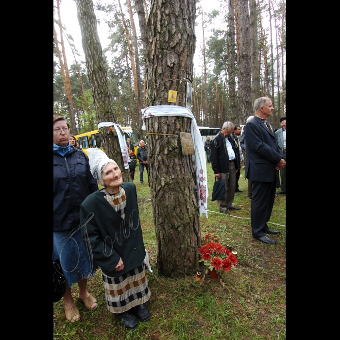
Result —
M 116 114 L 112 107 L 107 73 L 102 58 L 102 46 L 99 41 L 97 20 L 93 10 L 92 0 L 76 0 L 76 5 L 97 121 L 98 123 L 103 121 L 117 123 Z M 105 153 L 109 158 L 117 162 L 122 173 L 123 181 L 131 181 L 130 170 L 124 169 L 123 157 L 116 130 L 104 127 L 99 129 L 99 132 L 102 137 Z

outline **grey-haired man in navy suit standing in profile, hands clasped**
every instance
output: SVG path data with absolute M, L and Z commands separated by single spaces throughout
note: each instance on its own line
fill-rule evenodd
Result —
M 245 126 L 246 172 L 245 177 L 252 180 L 253 198 L 250 220 L 253 237 L 264 243 L 277 241 L 265 235 L 279 234 L 268 228 L 275 199 L 276 170 L 286 166 L 282 150 L 271 125 L 266 121 L 274 110 L 269 97 L 257 98 L 254 102 L 255 117 Z

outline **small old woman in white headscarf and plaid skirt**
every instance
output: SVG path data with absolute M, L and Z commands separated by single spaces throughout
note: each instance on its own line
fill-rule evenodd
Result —
M 99 149 L 87 149 L 91 172 L 104 188 L 80 206 L 83 240 L 102 269 L 107 309 L 128 329 L 150 319 L 146 252 L 136 186 L 123 182 L 117 163 Z

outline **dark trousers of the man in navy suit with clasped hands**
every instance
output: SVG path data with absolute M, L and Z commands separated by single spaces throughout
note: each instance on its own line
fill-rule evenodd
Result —
M 267 222 L 272 215 L 275 200 L 275 182 L 253 181 L 253 198 L 250 206 L 250 222 L 253 237 L 261 238 L 268 230 Z

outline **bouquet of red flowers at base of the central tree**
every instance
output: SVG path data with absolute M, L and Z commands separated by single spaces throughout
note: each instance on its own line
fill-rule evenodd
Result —
M 208 267 L 205 273 L 208 269 L 211 271 L 215 269 L 218 273 L 229 272 L 238 263 L 236 256 L 217 242 L 204 244 L 200 249 L 200 255 L 199 262 L 204 261 L 204 265 Z

